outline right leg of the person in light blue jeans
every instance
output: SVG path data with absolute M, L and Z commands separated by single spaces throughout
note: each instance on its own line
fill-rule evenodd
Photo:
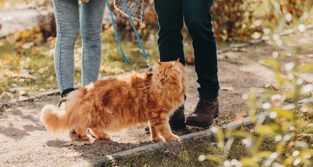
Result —
M 82 2 L 80 35 L 82 38 L 82 86 L 98 80 L 101 62 L 101 31 L 105 1 Z

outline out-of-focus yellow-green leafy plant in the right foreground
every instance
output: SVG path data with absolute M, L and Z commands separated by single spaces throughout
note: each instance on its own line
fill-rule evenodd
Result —
M 277 10 L 281 2 L 276 1 L 270 8 L 277 22 L 264 21 L 263 24 L 264 33 L 269 36 L 276 51 L 272 58 L 260 60 L 260 63 L 270 66 L 275 72 L 277 88 L 251 88 L 248 94 L 244 94 L 242 97 L 249 107 L 248 114 L 254 127 L 249 131 L 227 129 L 224 132 L 213 127 L 212 132 L 224 155 L 201 155 L 199 160 L 208 159 L 224 166 L 312 165 L 313 105 L 302 99 L 313 95 L 313 85 L 306 84 L 300 76 L 313 70 L 313 62 L 300 63 L 299 57 L 313 48 L 313 43 L 303 44 L 295 40 L 305 31 L 309 17 L 307 12 L 300 17 L 290 13 L 284 15 Z M 286 29 L 293 29 L 294 34 L 282 34 Z M 260 109 L 266 117 L 256 116 Z M 234 138 L 237 137 L 243 138 L 241 144 L 249 152 L 248 157 L 240 160 L 229 156 Z

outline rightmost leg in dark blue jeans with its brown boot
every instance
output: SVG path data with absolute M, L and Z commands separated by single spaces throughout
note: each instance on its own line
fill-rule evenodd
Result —
M 199 98 L 194 112 L 188 115 L 186 125 L 209 126 L 218 116 L 218 67 L 216 40 L 210 8 L 213 0 L 183 2 L 184 19 L 192 37 Z

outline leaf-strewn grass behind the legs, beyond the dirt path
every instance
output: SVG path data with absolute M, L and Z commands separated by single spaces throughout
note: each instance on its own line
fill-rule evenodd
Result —
M 133 40 L 134 42 L 130 42 L 129 40 L 122 40 L 121 42 L 123 51 L 130 61 L 130 64 L 126 64 L 119 50 L 114 32 L 105 30 L 102 33 L 103 42 L 100 77 L 147 67 L 145 58 L 136 39 Z M 33 34 L 32 31 L 31 34 Z M 34 35 L 37 34 L 34 33 Z M 123 36 L 123 33 L 120 35 Z M 185 55 L 193 55 L 192 39 L 185 29 L 183 30 L 183 36 Z M 150 60 L 151 58 L 157 60 L 159 57 L 156 39 L 157 35 L 155 34 L 154 41 L 142 41 Z M 41 91 L 57 89 L 58 84 L 54 71 L 54 57 L 53 54 L 46 54 L 48 51 L 53 53 L 52 49 L 54 49 L 54 45 L 50 45 L 49 42 L 40 44 L 40 42 L 33 41 L 29 37 L 26 37 L 25 45 L 28 45 L 29 42 L 35 42 L 37 45 L 23 48 L 17 46 L 18 43 L 20 43 L 20 40 L 21 37 L 17 37 L 17 41 L 15 41 L 14 34 L 0 39 L 0 76 L 1 78 L 4 78 L 0 80 L 0 94 L 5 91 L 13 93 L 14 97 L 19 96 L 12 91 L 12 89 L 10 90 L 10 88 L 14 88 L 14 84 L 15 86 L 17 85 L 18 87 L 23 87 L 25 89 L 26 93 L 23 94 L 23 96 L 32 95 Z M 227 45 L 228 44 L 222 42 L 218 43 L 218 47 Z M 81 40 L 79 37 L 74 49 L 74 84 L 79 84 L 81 82 L 80 54 Z M 8 60 L 6 58 L 8 58 Z M 151 61 L 151 64 L 154 64 L 154 62 Z M 27 71 L 30 75 L 36 77 L 36 79 L 11 77 L 13 72 L 23 73 L 23 71 Z M 0 101 L 4 100 L 0 99 Z

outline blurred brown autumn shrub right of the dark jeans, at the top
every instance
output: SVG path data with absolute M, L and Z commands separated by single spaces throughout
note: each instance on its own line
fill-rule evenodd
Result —
M 213 29 L 217 40 L 247 40 L 255 31 L 260 31 L 253 22 L 252 14 L 260 0 L 214 0 L 211 8 Z

